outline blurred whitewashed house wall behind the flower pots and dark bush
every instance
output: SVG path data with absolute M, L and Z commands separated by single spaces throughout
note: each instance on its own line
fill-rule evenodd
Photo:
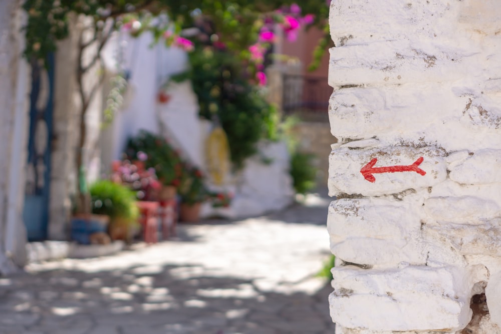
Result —
M 113 160 L 120 159 L 127 139 L 144 129 L 163 134 L 185 159 L 206 171 L 205 142 L 213 125 L 198 117 L 198 100 L 190 82 L 170 83 L 166 92 L 171 99 L 167 103 L 157 101 L 162 84 L 173 74 L 187 69 L 187 55 L 163 44 L 151 47 L 152 42 L 149 34 L 135 39 L 117 33 L 104 50 L 108 71 L 116 72 L 121 66 L 131 71 L 131 79 L 123 110 L 115 114 L 113 123 L 103 131 L 102 167 L 107 170 Z M 294 190 L 285 143 L 263 142 L 259 148 L 260 154 L 248 159 L 242 171 L 228 173 L 226 184 L 213 188 L 232 192 L 235 197 L 231 206 L 212 208 L 210 203 L 205 203 L 202 217 L 256 216 L 291 204 Z M 265 164 L 263 157 L 273 162 Z

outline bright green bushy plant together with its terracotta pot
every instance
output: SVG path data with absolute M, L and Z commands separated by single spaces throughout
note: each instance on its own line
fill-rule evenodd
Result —
M 139 226 L 134 191 L 123 184 L 100 180 L 90 187 L 90 194 L 92 212 L 110 217 L 111 239 L 130 241 Z

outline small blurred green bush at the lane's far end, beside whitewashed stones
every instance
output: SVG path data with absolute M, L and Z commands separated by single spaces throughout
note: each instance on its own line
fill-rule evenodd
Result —
M 315 155 L 294 152 L 291 156 L 290 173 L 297 193 L 304 194 L 315 188 L 317 169 L 313 165 Z

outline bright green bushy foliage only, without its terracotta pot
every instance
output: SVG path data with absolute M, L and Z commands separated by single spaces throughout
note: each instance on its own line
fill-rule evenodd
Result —
M 105 214 L 111 220 L 123 219 L 134 223 L 139 211 L 136 195 L 127 186 L 109 180 L 100 180 L 90 187 L 92 213 Z

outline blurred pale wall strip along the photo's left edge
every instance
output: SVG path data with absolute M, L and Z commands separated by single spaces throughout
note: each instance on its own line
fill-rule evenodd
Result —
M 0 2 L 0 274 L 26 262 L 23 222 L 28 140 L 29 66 L 21 27 L 22 2 Z

